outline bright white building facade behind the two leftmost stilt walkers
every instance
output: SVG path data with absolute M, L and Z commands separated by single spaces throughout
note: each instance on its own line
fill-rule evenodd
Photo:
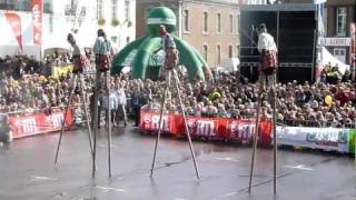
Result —
M 67 34 L 75 33 L 83 47 L 92 47 L 97 30 L 103 29 L 115 51 L 136 38 L 136 0 L 43 0 L 42 50 L 68 48 Z M 0 21 L 3 13 L 14 12 L 21 18 L 23 53 L 39 56 L 33 46 L 31 0 L 0 0 Z M 1 46 L 16 48 L 11 29 L 1 31 Z M 9 49 L 7 49 L 8 51 Z M 13 51 L 6 52 L 13 54 Z M 0 50 L 0 54 L 2 51 Z

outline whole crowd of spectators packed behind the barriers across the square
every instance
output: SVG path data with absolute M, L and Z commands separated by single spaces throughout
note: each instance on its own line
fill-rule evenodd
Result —
M 9 59 L 6 59 L 6 62 L 8 61 Z M 52 108 L 66 104 L 72 86 L 72 76 L 68 73 L 53 78 L 41 74 L 41 70 L 38 68 L 33 69 L 36 70 L 31 68 L 30 71 L 20 77 L 14 77 L 14 73 L 4 71 L 1 73 L 0 113 L 50 111 Z M 215 74 L 215 82 L 207 83 L 189 83 L 184 76 L 180 80 L 182 102 L 186 112 L 190 116 L 254 118 L 256 114 L 258 83 L 237 82 L 236 74 L 233 73 Z M 92 92 L 93 79 L 87 76 L 85 81 L 87 82 L 85 90 Z M 129 76 L 123 74 L 111 77 L 110 84 L 112 88 L 111 96 L 117 97 L 110 97 L 110 108 L 112 107 L 112 110 L 121 108 L 118 100 L 121 97 L 120 104 L 126 104 L 125 107 L 137 116 L 136 126 L 139 123 L 140 107 L 144 106 L 142 109 L 159 109 L 165 88 L 164 81 L 132 80 Z M 297 83 L 297 81 L 278 83 L 277 120 L 279 123 L 288 126 L 355 126 L 355 82 L 349 80 L 334 84 L 325 82 Z M 166 109 L 170 112 L 178 112 L 177 93 L 174 89 L 169 91 L 170 98 L 167 100 Z M 121 92 L 120 97 L 119 92 Z M 122 92 L 129 99 L 127 103 L 122 102 Z M 103 108 L 107 106 L 105 106 L 102 99 L 105 93 L 101 93 L 100 102 L 101 108 Z M 73 102 L 80 102 L 79 96 L 80 92 L 77 90 Z M 121 109 L 119 113 L 122 114 L 122 112 L 126 113 Z M 267 96 L 264 96 L 261 116 L 271 118 L 271 102 L 269 102 Z

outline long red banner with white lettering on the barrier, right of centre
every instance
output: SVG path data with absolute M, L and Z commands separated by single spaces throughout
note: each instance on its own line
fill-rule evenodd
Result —
M 159 113 L 141 111 L 140 128 L 157 131 L 159 127 Z M 235 140 L 241 143 L 251 142 L 255 133 L 255 120 L 233 120 L 227 118 L 199 118 L 188 117 L 187 126 L 191 137 L 219 140 Z M 176 137 L 186 134 L 182 117 L 179 114 L 162 116 L 162 132 Z M 263 120 L 258 127 L 258 142 L 270 144 L 271 123 Z

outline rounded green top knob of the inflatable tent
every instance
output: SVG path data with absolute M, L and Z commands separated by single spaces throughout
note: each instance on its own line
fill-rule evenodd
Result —
M 157 34 L 159 26 L 165 24 L 168 32 L 174 32 L 177 28 L 175 12 L 167 7 L 156 7 L 150 10 L 147 18 L 147 29 L 151 34 Z

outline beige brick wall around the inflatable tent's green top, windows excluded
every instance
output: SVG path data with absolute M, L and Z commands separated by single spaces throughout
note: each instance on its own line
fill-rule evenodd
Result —
M 239 46 L 237 16 L 239 7 L 237 1 L 231 0 L 188 0 L 188 1 L 159 1 L 159 0 L 137 0 L 137 38 L 147 34 L 146 16 L 149 8 L 165 6 L 172 9 L 177 16 L 177 36 L 190 43 L 202 54 L 202 46 L 208 46 L 208 66 L 216 67 L 216 48 L 219 43 L 221 47 L 221 60 L 228 58 L 228 44 L 233 46 L 234 57 L 237 57 L 237 46 Z M 184 30 L 184 10 L 189 10 L 189 31 Z M 202 12 L 207 11 L 209 16 L 208 33 L 202 33 Z M 216 13 L 221 13 L 221 33 L 216 33 Z M 229 32 L 229 14 L 233 14 L 234 31 Z

